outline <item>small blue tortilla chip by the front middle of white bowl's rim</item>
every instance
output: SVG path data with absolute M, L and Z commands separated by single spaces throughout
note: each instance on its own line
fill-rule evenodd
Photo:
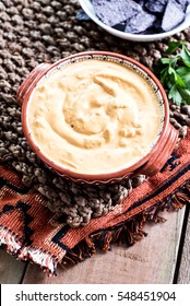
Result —
M 145 11 L 141 11 L 135 16 L 131 17 L 126 23 L 124 32 L 141 33 L 151 27 L 156 21 L 156 16 Z

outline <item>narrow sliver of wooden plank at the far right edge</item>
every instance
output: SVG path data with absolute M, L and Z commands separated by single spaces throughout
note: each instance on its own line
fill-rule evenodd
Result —
M 178 284 L 190 284 L 190 214 L 185 235 L 182 256 L 177 279 Z

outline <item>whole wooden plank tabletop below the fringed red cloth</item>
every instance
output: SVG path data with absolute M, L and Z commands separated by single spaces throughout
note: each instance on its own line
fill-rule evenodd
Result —
M 112 246 L 58 276 L 48 278 L 36 264 L 20 262 L 0 250 L 0 283 L 3 284 L 190 284 L 189 208 L 163 212 L 167 220 L 146 224 L 147 237 L 130 248 Z

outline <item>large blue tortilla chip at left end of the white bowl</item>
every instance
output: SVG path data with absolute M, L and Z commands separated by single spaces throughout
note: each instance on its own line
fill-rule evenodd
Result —
M 108 26 L 120 24 L 142 10 L 133 0 L 93 0 L 92 3 L 97 17 Z

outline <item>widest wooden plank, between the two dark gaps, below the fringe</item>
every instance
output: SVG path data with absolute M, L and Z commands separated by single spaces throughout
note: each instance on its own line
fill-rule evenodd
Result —
M 185 209 L 162 215 L 167 221 L 145 225 L 149 236 L 130 248 L 115 246 L 68 270 L 60 267 L 57 278 L 48 278 L 35 264 L 28 264 L 23 283 L 173 283 Z

